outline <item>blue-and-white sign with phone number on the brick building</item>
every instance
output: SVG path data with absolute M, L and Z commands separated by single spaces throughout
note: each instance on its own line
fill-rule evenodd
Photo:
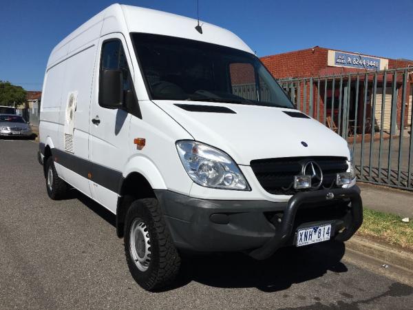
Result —
M 328 65 L 333 67 L 350 67 L 366 70 L 384 70 L 385 68 L 388 68 L 388 63 L 388 59 L 339 52 L 337 50 L 328 51 Z

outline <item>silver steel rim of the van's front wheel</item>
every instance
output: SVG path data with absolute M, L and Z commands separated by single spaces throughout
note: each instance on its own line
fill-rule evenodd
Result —
M 140 271 L 147 271 L 151 262 L 151 242 L 147 225 L 141 218 L 135 218 L 129 231 L 131 258 Z

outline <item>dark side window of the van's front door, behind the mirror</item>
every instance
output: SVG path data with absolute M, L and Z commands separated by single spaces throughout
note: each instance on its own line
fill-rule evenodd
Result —
M 131 112 L 131 114 L 141 118 L 136 96 L 134 94 L 134 87 L 129 66 L 127 65 L 125 50 L 123 50 L 122 42 L 118 39 L 111 39 L 103 42 L 100 59 L 100 76 L 102 76 L 104 70 L 122 71 L 123 103 L 125 107 L 127 107 L 128 112 Z M 102 87 L 101 80 L 99 83 L 99 89 L 100 87 Z

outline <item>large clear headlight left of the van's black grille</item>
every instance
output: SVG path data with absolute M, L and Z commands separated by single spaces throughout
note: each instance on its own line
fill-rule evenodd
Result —
M 178 141 L 176 149 L 193 182 L 219 189 L 250 190 L 237 164 L 219 149 L 195 141 Z

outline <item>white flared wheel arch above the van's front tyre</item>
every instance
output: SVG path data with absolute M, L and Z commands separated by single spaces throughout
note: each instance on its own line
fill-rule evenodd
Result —
M 123 177 L 126 178 L 133 172 L 142 174 L 152 189 L 167 189 L 162 174 L 160 174 L 159 169 L 149 158 L 144 156 L 134 156 L 130 158 L 125 166 Z

